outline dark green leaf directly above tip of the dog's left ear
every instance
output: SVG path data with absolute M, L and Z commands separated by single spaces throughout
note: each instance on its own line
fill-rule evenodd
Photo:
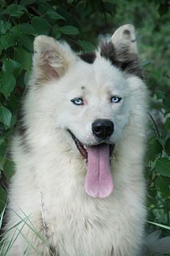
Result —
M 50 24 L 45 18 L 34 17 L 31 21 L 32 26 L 38 35 L 49 35 Z

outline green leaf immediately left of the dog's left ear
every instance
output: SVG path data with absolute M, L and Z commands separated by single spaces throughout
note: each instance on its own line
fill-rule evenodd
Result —
M 26 50 L 18 48 L 14 51 L 14 59 L 22 65 L 22 69 L 29 71 L 31 67 L 31 55 Z

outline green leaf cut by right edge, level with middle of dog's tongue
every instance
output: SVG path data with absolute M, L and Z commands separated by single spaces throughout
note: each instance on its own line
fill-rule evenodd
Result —
M 156 172 L 163 176 L 170 177 L 170 159 L 165 157 L 157 159 Z

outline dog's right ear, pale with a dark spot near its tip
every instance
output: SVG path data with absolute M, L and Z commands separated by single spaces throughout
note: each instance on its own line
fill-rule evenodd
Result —
M 111 38 L 118 65 L 122 70 L 142 77 L 138 61 L 136 34 L 134 26 L 119 27 Z

